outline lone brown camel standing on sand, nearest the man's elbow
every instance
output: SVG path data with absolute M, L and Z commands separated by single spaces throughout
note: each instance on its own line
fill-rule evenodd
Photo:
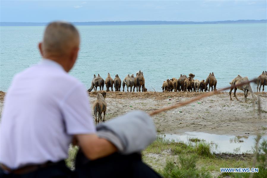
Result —
M 105 91 L 102 91 L 102 93 L 98 93 L 97 99 L 93 105 L 96 124 L 99 124 L 99 121 L 105 122 L 105 115 L 107 110 L 107 103 L 105 100 L 105 96 L 106 96 Z M 98 113 L 98 119 L 97 119 L 97 113 Z M 102 113 L 104 114 L 103 120 L 102 120 Z

